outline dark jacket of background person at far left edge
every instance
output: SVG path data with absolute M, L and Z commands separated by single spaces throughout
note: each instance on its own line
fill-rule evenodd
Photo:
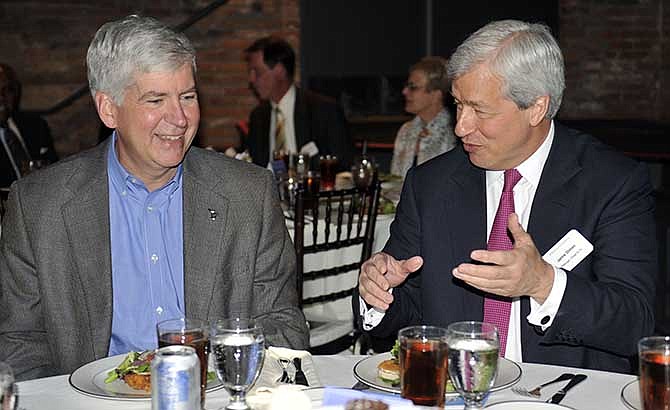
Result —
M 49 125 L 42 117 L 18 111 L 12 115 L 12 120 L 21 132 L 32 159 L 46 160 L 49 163 L 58 161 Z M 16 175 L 7 158 L 7 152 L 0 146 L 0 187 L 8 187 L 15 179 Z

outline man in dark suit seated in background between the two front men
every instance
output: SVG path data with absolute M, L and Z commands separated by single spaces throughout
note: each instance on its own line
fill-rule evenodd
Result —
M 249 83 L 261 99 L 249 117 L 249 135 L 243 144 L 253 162 L 267 167 L 273 151 L 308 153 L 316 160 L 313 154 L 318 150 L 319 155 L 337 156 L 339 168 L 349 170 L 353 146 L 344 114 L 333 99 L 296 87 L 291 45 L 281 38 L 264 37 L 245 52 Z M 278 133 L 283 133 L 281 147 L 276 142 Z

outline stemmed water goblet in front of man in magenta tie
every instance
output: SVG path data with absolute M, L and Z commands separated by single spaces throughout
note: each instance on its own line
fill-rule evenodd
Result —
M 498 329 L 483 322 L 456 322 L 447 327 L 449 376 L 465 409 L 483 408 L 498 369 Z

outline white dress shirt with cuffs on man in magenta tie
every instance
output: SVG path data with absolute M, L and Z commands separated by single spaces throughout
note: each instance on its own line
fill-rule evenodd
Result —
M 549 134 L 542 145 L 531 155 L 526 161 L 521 163 L 516 169 L 521 174 L 521 180 L 514 187 L 514 209 L 519 216 L 521 226 L 525 230 L 528 229 L 528 221 L 530 220 L 530 211 L 535 198 L 535 191 L 542 176 L 542 169 L 549 156 L 551 144 L 554 141 L 554 123 L 551 122 Z M 493 227 L 493 220 L 502 189 L 504 184 L 504 171 L 486 171 L 486 231 L 491 233 Z M 487 239 L 488 239 L 487 234 Z M 563 300 L 565 287 L 567 284 L 567 275 L 564 270 L 554 268 L 554 283 L 551 288 L 549 296 L 543 304 L 537 303 L 533 298 L 530 298 L 530 314 L 526 316 L 526 320 L 535 326 L 540 326 L 546 330 L 554 321 L 554 317 L 558 312 L 558 308 Z M 392 289 L 390 290 L 392 291 Z M 360 298 L 360 311 L 363 315 L 363 328 L 370 330 L 377 326 L 385 312 L 380 312 L 375 309 L 367 309 L 365 301 Z M 512 309 L 510 312 L 509 328 L 507 330 L 507 346 L 505 349 L 505 357 L 515 362 L 522 362 L 523 357 L 521 353 L 521 303 L 519 298 L 514 298 L 512 301 Z M 545 323 L 542 323 L 544 320 Z

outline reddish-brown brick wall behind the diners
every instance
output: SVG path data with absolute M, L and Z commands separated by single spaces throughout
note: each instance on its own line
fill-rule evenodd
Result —
M 86 47 L 105 21 L 142 12 L 178 24 L 208 4 L 2 0 L 0 60 L 18 71 L 23 107 L 46 109 L 86 83 Z M 223 148 L 236 143 L 235 122 L 246 119 L 256 104 L 247 89 L 242 50 L 270 33 L 287 37 L 299 50 L 299 4 L 231 0 L 186 31 L 198 49 L 200 144 Z M 560 43 L 568 82 L 561 117 L 670 122 L 669 41 L 670 0 L 561 0 Z M 47 120 L 62 155 L 97 142 L 99 123 L 90 97 Z

